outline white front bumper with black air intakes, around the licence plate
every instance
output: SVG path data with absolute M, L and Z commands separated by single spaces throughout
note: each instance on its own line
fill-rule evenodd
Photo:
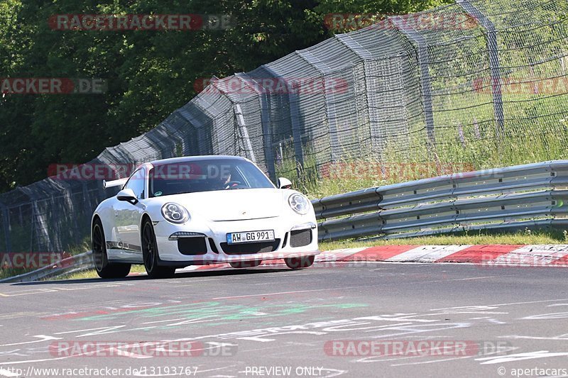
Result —
M 232 245 L 226 243 L 227 233 L 257 230 L 274 230 L 275 240 Z M 154 231 L 160 264 L 175 267 L 219 262 L 275 260 L 320 253 L 317 246 L 315 218 L 305 216 L 288 219 L 273 217 L 244 221 L 188 222 L 183 225 L 160 221 L 154 222 Z M 192 248 L 192 245 L 198 245 L 198 247 Z

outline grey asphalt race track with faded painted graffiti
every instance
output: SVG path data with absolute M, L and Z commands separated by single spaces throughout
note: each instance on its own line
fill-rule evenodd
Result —
M 0 284 L 0 377 L 567 377 L 566 288 L 376 262 Z

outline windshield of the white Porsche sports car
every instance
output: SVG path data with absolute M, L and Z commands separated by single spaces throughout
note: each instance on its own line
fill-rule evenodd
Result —
M 153 167 L 151 197 L 198 191 L 274 188 L 272 182 L 246 160 L 212 159 L 175 162 Z

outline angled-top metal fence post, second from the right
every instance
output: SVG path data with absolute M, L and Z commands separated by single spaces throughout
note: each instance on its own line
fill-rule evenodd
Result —
M 424 36 L 406 26 L 400 17 L 389 17 L 388 21 L 391 21 L 400 33 L 403 33 L 403 35 L 417 45 L 418 67 L 420 67 L 420 87 L 422 87 L 422 98 L 424 99 L 422 106 L 424 107 L 426 132 L 430 147 L 435 148 L 436 135 L 434 131 L 434 112 L 432 107 L 432 77 L 430 77 L 430 71 L 428 70 L 428 65 L 430 65 L 428 43 Z

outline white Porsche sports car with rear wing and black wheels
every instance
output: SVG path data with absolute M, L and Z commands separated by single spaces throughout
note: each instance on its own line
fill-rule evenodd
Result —
M 189 265 L 256 267 L 282 258 L 298 269 L 320 253 L 311 202 L 288 179 L 276 188 L 244 157 L 157 160 L 104 186 L 121 191 L 92 216 L 94 266 L 103 278 L 125 277 L 131 264 L 153 278 Z

